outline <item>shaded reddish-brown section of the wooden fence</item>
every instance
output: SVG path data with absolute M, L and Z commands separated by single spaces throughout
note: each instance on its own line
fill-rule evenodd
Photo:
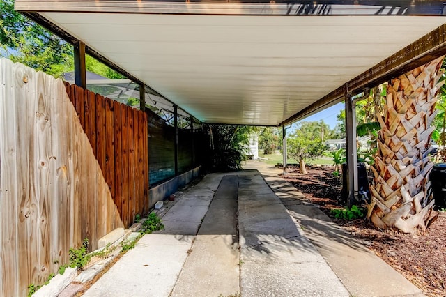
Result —
M 65 83 L 125 227 L 148 212 L 147 114 Z

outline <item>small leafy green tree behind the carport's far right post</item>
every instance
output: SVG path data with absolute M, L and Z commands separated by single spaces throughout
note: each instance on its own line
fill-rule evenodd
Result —
M 303 121 L 287 138 L 288 155 L 299 162 L 301 174 L 307 174 L 305 162 L 323 155 L 327 146 L 324 139 L 330 136 L 330 127 L 324 121 Z

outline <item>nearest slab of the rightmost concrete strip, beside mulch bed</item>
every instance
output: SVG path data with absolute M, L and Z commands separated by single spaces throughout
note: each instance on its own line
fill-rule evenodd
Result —
M 289 206 L 289 210 L 305 226 L 305 234 L 311 238 L 353 296 L 423 296 L 420 289 L 365 248 L 360 241 L 346 234 L 337 224 L 328 222 L 330 218 L 318 208 Z M 308 219 L 307 215 L 315 212 L 326 218 Z

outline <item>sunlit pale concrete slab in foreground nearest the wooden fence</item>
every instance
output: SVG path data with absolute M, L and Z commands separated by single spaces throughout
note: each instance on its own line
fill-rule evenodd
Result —
M 84 296 L 169 296 L 193 236 L 147 234 Z

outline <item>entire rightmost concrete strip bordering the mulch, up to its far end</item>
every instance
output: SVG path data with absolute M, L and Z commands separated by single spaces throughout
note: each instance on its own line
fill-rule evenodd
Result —
M 423 296 L 422 291 L 386 264 L 360 241 L 346 234 L 305 195 L 280 178 L 281 169 L 261 162 L 249 162 L 249 167 L 265 174 L 289 213 L 305 230 L 351 296 Z M 378 284 L 378 285 L 377 285 Z M 333 294 L 330 294 L 333 296 Z

